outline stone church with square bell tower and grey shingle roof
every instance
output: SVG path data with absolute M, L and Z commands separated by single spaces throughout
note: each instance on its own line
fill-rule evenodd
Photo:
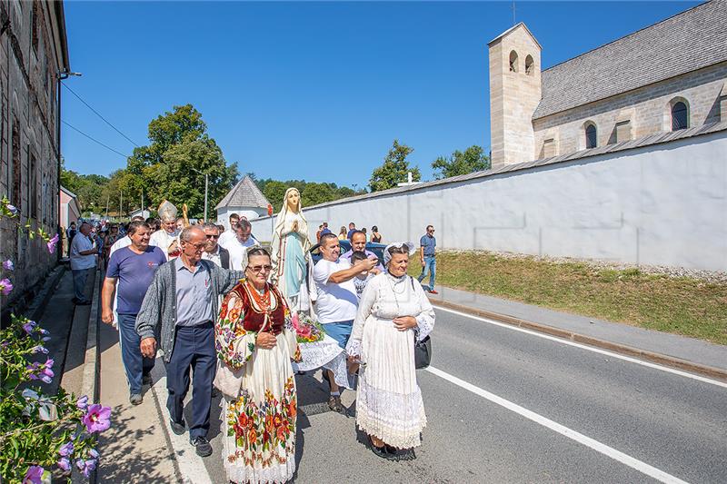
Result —
M 727 120 L 727 1 L 541 70 L 523 24 L 489 43 L 493 168 Z

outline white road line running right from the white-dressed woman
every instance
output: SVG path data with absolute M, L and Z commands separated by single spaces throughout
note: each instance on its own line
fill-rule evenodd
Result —
M 590 437 L 586 437 L 582 433 L 564 427 L 560 423 L 554 422 L 550 419 L 546 419 L 542 415 L 539 415 L 531 410 L 524 409 L 520 405 L 517 405 L 510 400 L 504 400 L 502 397 L 498 397 L 497 395 L 494 395 L 489 391 L 483 390 L 479 387 L 475 387 L 472 383 L 460 380 L 443 370 L 438 370 L 432 366 L 430 366 L 426 370 L 440 378 L 443 378 L 444 380 L 452 382 L 453 384 L 463 388 L 464 390 L 472 391 L 475 395 L 483 397 L 483 399 L 490 400 L 507 410 L 511 410 L 519 415 L 522 415 L 528 420 L 533 420 L 533 422 L 543 425 L 543 427 L 554 430 L 569 439 L 575 440 L 576 442 L 583 444 L 586 447 L 596 450 L 597 452 L 601 452 L 603 455 L 608 456 L 611 459 L 617 460 L 632 469 L 636 469 L 639 472 L 642 472 L 642 474 L 646 474 L 653 479 L 657 479 L 661 482 L 669 484 L 686 484 L 686 482 L 682 479 L 675 478 L 671 474 L 668 474 L 661 469 L 656 469 L 649 464 L 642 462 L 639 459 L 634 459 L 619 450 L 613 449 L 612 447 L 609 447 L 606 444 L 599 442 L 598 440 L 593 440 Z

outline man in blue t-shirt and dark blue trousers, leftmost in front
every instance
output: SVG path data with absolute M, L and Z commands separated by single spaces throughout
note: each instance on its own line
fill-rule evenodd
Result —
M 121 358 L 124 361 L 126 379 L 129 380 L 129 401 L 140 404 L 142 386 L 151 384 L 154 359 L 144 358 L 139 348 L 140 338 L 136 332 L 136 315 L 144 301 L 146 290 L 154 278 L 154 272 L 166 262 L 166 255 L 159 247 L 149 245 L 150 228 L 144 221 L 129 223 L 128 236 L 131 245 L 123 247 L 108 261 L 108 269 L 101 291 L 101 320 L 107 324 L 114 321 L 111 302 L 114 301 L 116 282 L 118 282 L 119 339 Z

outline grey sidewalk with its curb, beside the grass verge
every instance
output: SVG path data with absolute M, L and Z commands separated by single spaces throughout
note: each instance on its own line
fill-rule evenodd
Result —
M 436 306 L 727 380 L 727 346 L 437 286 Z

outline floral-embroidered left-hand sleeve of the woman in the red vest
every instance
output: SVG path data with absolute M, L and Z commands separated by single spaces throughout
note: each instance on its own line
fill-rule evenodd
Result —
M 243 321 L 243 298 L 238 289 L 234 289 L 224 297 L 214 327 L 217 358 L 234 370 L 243 368 L 255 351 L 257 331 L 245 331 Z

